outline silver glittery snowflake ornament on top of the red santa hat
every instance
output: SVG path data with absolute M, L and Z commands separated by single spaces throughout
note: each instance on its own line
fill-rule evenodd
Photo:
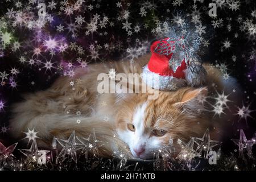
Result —
M 169 60 L 169 65 L 174 72 L 181 65 L 181 62 L 185 60 L 185 63 L 189 65 L 189 69 L 199 74 L 200 70 L 203 69 L 201 67 L 201 60 L 197 55 L 201 38 L 195 31 L 195 27 L 191 23 L 184 23 L 182 26 L 174 25 L 167 32 L 166 36 L 168 38 L 160 40 L 154 51 L 159 53 L 159 55 L 166 56 L 173 53 Z M 195 60 L 197 60 L 196 63 Z

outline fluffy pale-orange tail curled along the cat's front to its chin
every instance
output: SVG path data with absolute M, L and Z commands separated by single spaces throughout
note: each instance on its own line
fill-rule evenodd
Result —
M 114 151 L 125 152 L 129 154 L 129 149 L 114 133 L 114 126 L 111 122 L 104 122 L 97 116 L 92 117 L 71 117 L 64 114 L 43 114 L 31 118 L 31 113 L 20 113 L 20 117 L 11 120 L 11 133 L 15 138 L 23 138 L 24 133 L 28 129 L 35 129 L 39 139 L 37 140 L 39 147 L 51 148 L 53 137 L 67 139 L 72 131 L 76 131 L 77 137 L 89 137 L 96 134 L 96 139 L 101 141 L 98 148 L 98 155 L 103 157 L 113 156 Z M 30 114 L 30 118 L 28 115 Z M 22 121 L 26 117 L 27 122 Z M 77 120 L 80 123 L 77 123 Z

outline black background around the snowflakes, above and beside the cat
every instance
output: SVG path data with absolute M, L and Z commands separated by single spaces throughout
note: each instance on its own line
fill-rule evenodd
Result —
M 45 1 L 46 3 L 48 1 Z M 87 60 L 92 64 L 94 62 L 105 62 L 109 60 L 118 60 L 123 59 L 127 56 L 126 48 L 128 47 L 139 47 L 140 45 L 136 43 L 136 39 L 139 39 L 141 42 L 145 43 L 148 41 L 147 46 L 150 46 L 150 43 L 154 40 L 158 39 L 158 35 L 154 35 L 151 32 L 152 28 L 155 28 L 154 17 L 157 16 L 160 22 L 167 21 L 170 25 L 173 24 L 172 18 L 175 15 L 179 14 L 180 16 L 191 18 L 191 14 L 193 13 L 192 6 L 194 5 L 193 1 L 184 1 L 180 6 L 172 5 L 173 1 L 86 1 L 82 5 L 81 11 L 77 11 L 71 16 L 66 16 L 64 13 L 61 15 L 57 15 L 59 12 L 60 1 L 56 5 L 56 9 L 47 11 L 53 15 L 53 21 L 51 23 L 47 23 L 42 31 L 47 34 L 53 36 L 61 36 L 65 37 L 67 43 L 69 45 L 70 42 L 76 42 L 77 45 L 80 45 L 84 48 L 84 55 L 77 55 L 75 51 L 71 51 L 71 49 L 67 49 L 67 52 L 60 55 L 56 53 L 53 56 L 53 60 L 55 62 L 54 67 L 51 71 L 43 68 L 43 63 L 38 65 L 29 65 L 28 63 L 20 63 L 19 57 L 25 56 L 27 60 L 32 55 L 32 45 L 35 46 L 36 42 L 33 42 L 35 31 L 28 30 L 25 26 L 17 26 L 12 27 L 11 23 L 13 19 L 7 19 L 7 28 L 3 28 L 5 31 L 12 32 L 15 39 L 20 42 L 22 45 L 18 51 L 11 50 L 11 44 L 2 47 L 2 52 L 4 56 L 0 57 L 0 72 L 6 71 L 10 73 L 11 68 L 18 68 L 19 74 L 14 76 L 15 81 L 18 86 L 16 88 L 11 88 L 9 85 L 10 80 L 5 80 L 6 85 L 0 85 L 0 101 L 5 102 L 5 107 L 3 110 L 0 110 L 0 129 L 1 126 L 8 126 L 9 118 L 11 117 L 11 105 L 14 102 L 18 102 L 21 100 L 21 96 L 23 93 L 32 93 L 36 92 L 36 90 L 47 89 L 52 82 L 63 75 L 63 71 L 59 71 L 57 65 L 61 63 L 61 60 L 65 59 L 71 61 L 74 65 L 78 65 L 76 58 L 81 57 L 83 60 Z M 69 3 L 74 3 L 75 1 L 68 1 Z M 122 8 L 118 8 L 116 3 L 121 2 Z M 143 18 L 139 15 L 139 9 L 144 3 L 150 2 L 154 8 L 150 7 L 146 9 L 147 14 Z M 212 26 L 212 20 L 208 15 L 208 4 L 212 1 L 203 1 L 196 2 L 197 11 L 200 12 L 200 20 L 203 26 L 207 26 L 205 29 L 206 33 L 203 34 L 204 38 L 209 40 L 209 47 L 204 50 L 202 55 L 202 60 L 205 62 L 209 62 L 212 64 L 221 64 L 224 63 L 228 65 L 228 73 L 230 76 L 237 78 L 238 82 L 241 85 L 243 91 L 243 98 L 240 102 L 239 107 L 242 105 L 249 105 L 250 110 L 255 110 L 255 84 L 256 84 L 256 75 L 255 75 L 255 36 L 250 36 L 247 29 L 243 30 L 243 24 L 249 21 L 255 27 L 256 15 L 253 16 L 251 13 L 256 10 L 255 1 L 237 1 L 240 3 L 239 10 L 232 11 L 229 9 L 229 6 L 217 7 L 217 19 L 222 18 L 223 24 L 221 27 L 214 28 Z M 130 6 L 127 5 L 130 3 Z M 0 17 L 6 17 L 7 9 L 14 10 L 22 10 L 27 11 L 28 1 L 22 1 L 22 7 L 16 8 L 15 2 L 0 2 Z M 88 10 L 88 6 L 93 5 L 94 9 L 92 11 Z M 98 6 L 99 5 L 99 6 Z M 36 6 L 30 5 L 32 8 L 29 12 L 36 14 Z M 97 8 L 98 6 L 98 8 Z M 170 13 L 167 13 L 167 9 L 170 9 Z M 127 35 L 127 32 L 122 27 L 122 23 L 125 23 L 126 20 L 121 19 L 118 20 L 118 16 L 123 13 L 123 11 L 129 10 L 130 15 L 128 18 L 128 22 L 132 23 L 131 27 L 133 28 L 136 24 L 141 26 L 141 31 L 138 33 L 133 33 L 133 35 Z M 63 11 L 62 11 L 63 12 Z M 93 34 L 85 35 L 86 32 L 86 23 L 89 23 L 94 14 L 101 15 L 101 20 L 104 15 L 108 16 L 109 21 L 114 22 L 114 26 L 110 27 L 109 23 L 106 28 L 98 28 L 96 32 Z M 255 13 L 256 14 L 256 13 Z M 75 23 L 75 17 L 77 15 L 82 15 L 85 17 L 85 22 L 82 23 L 82 26 L 77 28 L 77 38 L 72 38 L 72 35 L 68 32 L 68 30 L 64 30 L 59 33 L 56 31 L 56 26 L 60 23 L 64 26 L 67 26 L 65 23 Z M 238 18 L 241 17 L 241 22 L 238 22 Z M 144 23 L 148 24 L 148 28 L 143 28 Z M 231 31 L 228 31 L 228 24 L 232 27 Z M 1 27 L 0 27 L 1 29 Z M 108 32 L 108 35 L 100 35 L 102 32 Z M 238 34 L 238 37 L 235 38 L 234 35 Z M 160 36 L 160 38 L 163 38 Z M 223 48 L 223 42 L 225 40 L 230 40 L 232 43 L 231 47 L 228 49 Z M 0 39 L 1 40 L 1 39 Z M 127 41 L 128 40 L 128 41 Z M 97 41 L 97 43 L 96 43 Z M 40 43 L 40 42 L 39 42 Z M 98 52 L 100 56 L 98 59 L 94 60 L 90 56 L 89 46 L 90 44 L 100 44 L 101 46 L 104 43 L 108 43 L 112 46 L 111 50 L 100 49 Z M 119 44 L 122 44 L 119 47 Z M 1 46 L 1 44 L 0 44 Z M 43 52 L 45 53 L 45 52 Z M 46 53 L 45 53 L 46 54 Z M 236 55 L 237 59 L 234 62 L 232 60 L 232 56 Z M 253 59 L 250 59 L 250 56 L 254 55 Z M 46 57 L 49 59 L 49 55 Z M 39 58 L 40 59 L 40 58 Z M 44 60 L 42 59 L 42 62 Z M 39 71 L 39 68 L 42 68 Z M 250 75 L 250 77 L 249 77 Z M 11 75 L 8 77 L 10 78 Z M 251 78 L 251 81 L 250 81 Z M 1 80 L 0 80 L 1 81 Z M 31 85 L 31 82 L 34 81 L 35 85 Z M 234 113 L 236 114 L 236 113 Z M 237 116 L 236 121 L 233 122 L 233 131 L 229 131 L 232 134 L 233 138 L 239 137 L 238 129 L 243 129 L 245 131 L 246 137 L 253 137 L 254 132 L 256 131 L 256 122 L 255 122 L 255 112 L 251 113 L 251 118 L 247 118 L 247 124 L 245 119 L 239 119 Z M 14 142 L 11 137 L 7 133 L 0 133 L 0 139 L 5 143 L 6 146 Z M 230 151 L 233 152 L 236 146 L 233 142 L 230 141 L 230 138 L 226 138 L 226 140 L 222 143 L 222 150 L 226 153 Z

